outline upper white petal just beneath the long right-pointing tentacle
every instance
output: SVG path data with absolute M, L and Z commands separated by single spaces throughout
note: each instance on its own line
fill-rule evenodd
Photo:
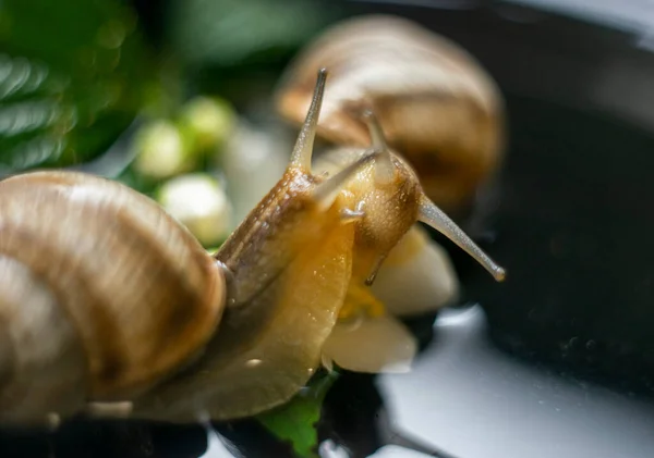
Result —
M 452 304 L 459 280 L 447 251 L 416 225 L 392 249 L 372 289 L 390 313 L 402 317 Z

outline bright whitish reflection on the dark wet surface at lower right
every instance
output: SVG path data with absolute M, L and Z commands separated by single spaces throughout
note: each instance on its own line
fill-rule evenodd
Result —
M 448 312 L 435 326 L 438 345 L 411 374 L 379 377 L 397 428 L 461 458 L 652 456 L 654 404 L 499 352 L 479 306 Z

